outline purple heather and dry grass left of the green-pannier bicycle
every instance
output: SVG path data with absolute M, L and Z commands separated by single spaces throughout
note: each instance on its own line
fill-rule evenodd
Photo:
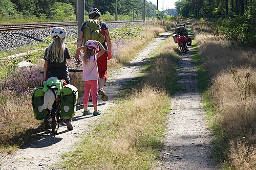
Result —
M 40 67 L 17 68 L 0 82 L 0 145 L 21 144 L 29 129 L 38 128 L 31 92 L 41 86 Z

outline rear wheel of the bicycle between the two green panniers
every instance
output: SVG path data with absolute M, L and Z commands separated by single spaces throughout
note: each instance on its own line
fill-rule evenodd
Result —
M 59 113 L 59 102 L 55 101 L 52 106 L 52 133 L 56 134 L 59 129 L 61 117 Z

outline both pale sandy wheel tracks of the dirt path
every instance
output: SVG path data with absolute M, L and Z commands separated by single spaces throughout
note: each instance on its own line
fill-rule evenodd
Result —
M 77 112 L 73 117 L 73 131 L 68 131 L 63 125 L 54 135 L 51 131 L 40 133 L 29 144 L 25 144 L 15 154 L 0 156 L 0 169 L 26 170 L 26 169 L 49 169 L 56 162 L 62 160 L 62 153 L 72 152 L 74 144 L 79 141 L 79 135 L 90 133 L 92 123 L 97 123 L 104 112 L 113 105 L 115 96 L 121 85 L 133 81 L 139 74 L 145 63 L 146 57 L 164 40 L 170 31 L 163 33 L 154 39 L 139 55 L 131 61 L 130 66 L 120 70 L 110 71 L 111 77 L 105 85 L 105 91 L 109 95 L 109 101 L 103 102 L 99 98 L 99 116 L 83 116 L 83 106 L 79 102 Z M 192 66 L 191 53 L 182 55 L 179 75 L 181 86 L 186 86 L 186 91 L 178 93 L 173 99 L 173 110 L 169 114 L 169 128 L 166 136 L 166 147 L 161 154 L 161 165 L 155 169 L 215 169 L 209 156 L 209 133 L 205 129 L 202 119 L 204 112 L 201 106 L 201 97 L 196 84 L 195 66 Z M 184 64 L 184 65 L 183 65 Z M 183 79 L 184 78 L 184 79 Z M 91 110 L 92 105 L 89 105 Z M 173 153 L 173 156 L 171 156 Z

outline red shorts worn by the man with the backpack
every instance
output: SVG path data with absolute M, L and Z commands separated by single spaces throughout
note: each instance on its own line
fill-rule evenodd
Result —
M 104 79 L 106 81 L 106 74 L 108 69 L 108 53 L 104 53 L 100 56 L 98 60 L 98 71 L 99 71 L 99 78 Z

